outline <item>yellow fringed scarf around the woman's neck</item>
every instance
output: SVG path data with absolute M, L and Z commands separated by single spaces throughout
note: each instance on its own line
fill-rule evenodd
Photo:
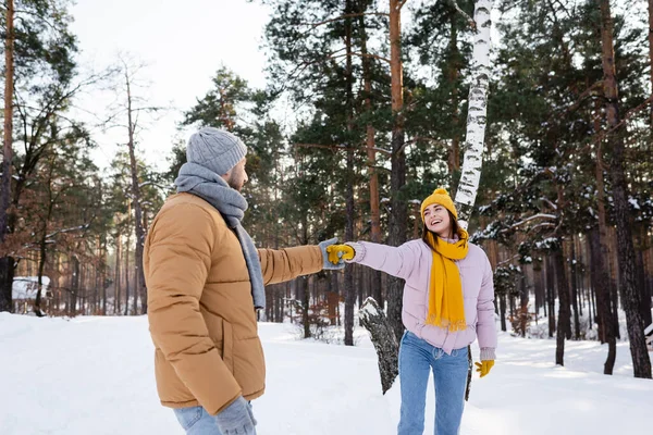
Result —
M 433 248 L 427 324 L 448 328 L 451 332 L 467 328 L 460 272 L 453 260 L 467 257 L 469 235 L 459 228 L 458 237 L 458 241 L 449 244 L 431 232 L 427 235 L 429 245 Z

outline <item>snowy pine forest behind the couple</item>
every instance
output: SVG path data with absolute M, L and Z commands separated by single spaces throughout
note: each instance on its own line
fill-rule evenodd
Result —
M 398 246 L 444 186 L 490 258 L 503 331 L 555 338 L 560 365 L 566 340 L 599 340 L 605 374 L 628 340 L 633 375 L 651 378 L 653 0 L 250 2 L 272 11 L 268 85 L 217 64 L 178 128 L 247 145 L 259 247 Z M 67 0 L 2 9 L 0 311 L 144 314 L 143 244 L 185 142 L 170 138 L 167 170 L 148 163 L 143 120 L 164 108 L 139 94 L 138 60 L 83 69 Z M 76 110 L 100 88 L 122 137 L 108 171 Z M 372 297 L 401 337 L 402 288 L 362 266 L 321 272 L 268 286 L 259 320 L 352 346 Z

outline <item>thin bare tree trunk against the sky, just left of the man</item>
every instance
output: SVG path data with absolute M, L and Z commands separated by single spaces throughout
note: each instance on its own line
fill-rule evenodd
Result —
M 138 181 L 138 165 L 136 163 L 136 144 L 134 133 L 136 123 L 134 120 L 134 108 L 132 107 L 132 89 L 130 83 L 130 71 L 125 66 L 125 83 L 127 86 L 127 134 L 130 148 L 130 164 L 132 170 L 132 207 L 134 207 L 136 249 L 134 250 L 134 314 L 138 310 L 138 296 L 143 306 L 143 313 L 147 312 L 147 289 L 145 287 L 145 274 L 143 272 L 143 244 L 145 243 L 145 228 L 143 227 L 143 210 L 140 208 L 140 183 Z

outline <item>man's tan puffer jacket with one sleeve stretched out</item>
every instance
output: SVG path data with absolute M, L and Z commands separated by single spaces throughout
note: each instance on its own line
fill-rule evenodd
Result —
M 317 246 L 259 249 L 264 284 L 319 272 Z M 215 414 L 263 394 L 266 364 L 241 243 L 222 215 L 190 194 L 170 197 L 144 252 L 148 320 L 161 403 Z

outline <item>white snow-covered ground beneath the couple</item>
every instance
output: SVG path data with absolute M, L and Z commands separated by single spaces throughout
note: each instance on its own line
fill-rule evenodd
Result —
M 358 346 L 298 340 L 288 324 L 260 324 L 267 393 L 254 402 L 259 435 L 391 435 L 398 383 L 381 395 L 365 331 Z M 653 381 L 632 378 L 627 344 L 614 376 L 606 348 L 500 336 L 498 360 L 475 377 L 463 435 L 643 434 L 653 430 Z M 475 346 L 478 355 L 478 348 Z M 157 399 L 147 320 L 36 319 L 0 313 L 0 434 L 183 434 Z M 427 431 L 433 433 L 433 391 Z

